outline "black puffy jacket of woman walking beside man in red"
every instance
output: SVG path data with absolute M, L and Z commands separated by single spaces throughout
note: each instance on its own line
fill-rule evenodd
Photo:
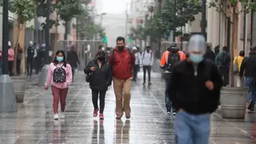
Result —
M 92 72 L 92 78 L 90 82 L 91 90 L 107 90 L 107 87 L 110 86 L 112 83 L 112 72 L 108 62 L 103 62 L 102 67 L 99 68 L 99 65 L 97 64 L 97 59 L 91 60 L 86 66 L 86 69 L 84 69 L 86 75 L 91 73 L 91 67 L 96 68 L 96 70 Z

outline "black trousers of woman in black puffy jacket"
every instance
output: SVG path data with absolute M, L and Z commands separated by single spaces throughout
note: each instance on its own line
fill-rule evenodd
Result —
M 99 90 L 91 90 L 92 94 L 92 104 L 94 109 L 98 109 L 97 100 L 100 95 L 100 113 L 103 113 L 105 107 L 105 96 L 106 91 L 99 91 Z

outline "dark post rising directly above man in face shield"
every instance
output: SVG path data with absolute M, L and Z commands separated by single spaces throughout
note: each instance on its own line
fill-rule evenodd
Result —
M 206 0 L 201 0 L 201 35 L 206 39 Z

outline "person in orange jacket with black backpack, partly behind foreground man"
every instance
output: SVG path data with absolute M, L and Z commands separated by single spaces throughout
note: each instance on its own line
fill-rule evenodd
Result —
M 171 105 L 170 95 L 168 94 L 168 80 L 170 79 L 171 71 L 177 62 L 185 59 L 185 54 L 181 53 L 181 51 L 176 47 L 176 44 L 170 44 L 170 48 L 168 48 L 165 53 L 162 55 L 162 58 L 159 62 L 160 68 L 164 70 L 164 79 L 165 79 L 165 108 L 166 114 L 170 114 L 172 110 L 172 115 L 176 115 L 175 108 Z

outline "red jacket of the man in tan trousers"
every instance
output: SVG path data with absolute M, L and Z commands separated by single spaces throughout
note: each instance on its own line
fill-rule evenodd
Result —
M 113 49 L 114 59 L 112 54 L 109 57 L 109 64 L 112 65 L 112 75 L 118 79 L 128 80 L 133 77 L 133 67 L 135 65 L 135 57 L 132 51 L 132 58 L 128 52 L 128 48 L 123 51 L 118 48 Z

